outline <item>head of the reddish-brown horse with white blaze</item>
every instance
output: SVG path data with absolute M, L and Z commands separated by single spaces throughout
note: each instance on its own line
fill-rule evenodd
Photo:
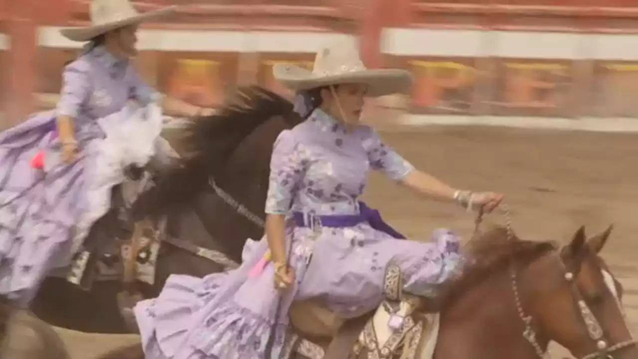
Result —
M 581 227 L 570 243 L 530 268 L 537 282 L 530 310 L 539 332 L 577 358 L 638 357 L 623 311 L 623 287 L 599 256 L 611 230 L 586 239 Z

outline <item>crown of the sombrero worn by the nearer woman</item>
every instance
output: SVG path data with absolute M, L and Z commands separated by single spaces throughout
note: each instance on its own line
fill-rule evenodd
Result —
M 320 49 L 315 57 L 313 75 L 326 77 L 348 72 L 366 71 L 366 65 L 356 45 L 352 42 L 336 42 Z

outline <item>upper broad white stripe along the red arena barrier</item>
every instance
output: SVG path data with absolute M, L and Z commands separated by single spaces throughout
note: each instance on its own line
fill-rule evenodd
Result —
M 74 49 L 82 43 L 67 40 L 61 27 L 38 29 L 43 47 Z M 313 53 L 349 34 L 293 31 L 218 31 L 142 29 L 140 50 Z M 548 59 L 638 60 L 638 34 L 576 34 L 532 31 L 386 28 L 381 49 L 398 56 L 498 56 Z M 10 39 L 0 34 L 0 50 Z

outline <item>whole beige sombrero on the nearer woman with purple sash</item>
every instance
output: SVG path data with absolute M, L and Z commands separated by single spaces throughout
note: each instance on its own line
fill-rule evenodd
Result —
M 312 71 L 295 65 L 276 64 L 272 73 L 276 80 L 293 91 L 355 83 L 366 84 L 367 96 L 377 97 L 405 93 L 412 86 L 412 74 L 405 70 L 367 69 L 352 42 L 338 42 L 320 49 Z

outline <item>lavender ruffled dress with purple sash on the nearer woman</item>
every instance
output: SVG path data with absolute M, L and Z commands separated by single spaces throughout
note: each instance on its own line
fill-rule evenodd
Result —
M 271 160 L 266 212 L 288 217 L 287 245 L 297 283 L 281 298 L 271 358 L 287 358 L 292 300 L 322 298 L 343 317 L 382 302 L 385 266 L 403 268 L 405 290 L 428 296 L 461 266 L 459 238 L 438 230 L 419 243 L 380 223 L 358 201 L 369 169 L 401 179 L 412 165 L 384 146 L 373 129 L 347 134 L 325 112 L 279 135 Z M 313 218 L 320 218 L 322 225 Z M 249 241 L 240 268 L 203 279 L 173 275 L 163 291 L 135 307 L 147 359 L 258 359 L 265 351 L 279 293 L 269 264 L 251 271 L 268 245 Z M 310 255 L 312 257 L 310 259 Z

